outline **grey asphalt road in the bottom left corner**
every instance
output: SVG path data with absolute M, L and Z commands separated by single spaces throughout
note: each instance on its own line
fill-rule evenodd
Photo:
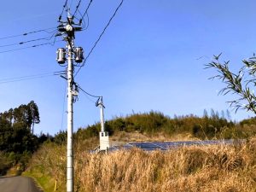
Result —
M 0 177 L 0 192 L 43 192 L 31 177 Z

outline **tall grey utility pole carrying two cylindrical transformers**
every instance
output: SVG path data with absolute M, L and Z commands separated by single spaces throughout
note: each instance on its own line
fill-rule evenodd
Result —
M 74 170 L 73 170 L 73 102 L 74 96 L 78 96 L 78 91 L 74 86 L 73 79 L 73 61 L 77 63 L 84 59 L 83 49 L 74 47 L 74 34 L 76 31 L 81 31 L 82 27 L 75 26 L 73 16 L 68 13 L 67 21 L 60 21 L 58 26 L 61 35 L 65 35 L 67 41 L 67 59 L 66 49 L 60 48 L 57 50 L 57 61 L 60 65 L 65 64 L 67 60 L 67 192 L 74 190 Z

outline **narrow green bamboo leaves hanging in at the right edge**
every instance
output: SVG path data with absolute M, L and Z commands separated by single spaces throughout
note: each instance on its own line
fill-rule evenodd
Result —
M 232 73 L 229 64 L 230 61 L 219 61 L 221 54 L 213 55 L 213 61 L 206 64 L 206 68 L 214 68 L 218 74 L 211 79 L 220 79 L 224 82 L 225 87 L 219 91 L 222 95 L 229 93 L 235 94 L 236 99 L 230 101 L 230 107 L 238 109 L 246 109 L 256 113 L 256 96 L 253 88 L 256 84 L 256 56 L 243 60 L 243 67 L 238 73 Z

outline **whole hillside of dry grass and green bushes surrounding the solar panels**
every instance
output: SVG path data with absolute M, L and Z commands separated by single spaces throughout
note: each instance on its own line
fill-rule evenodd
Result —
M 183 147 L 167 152 L 139 149 L 90 154 L 98 145 L 99 124 L 74 134 L 76 191 L 255 191 L 256 140 L 253 119 L 235 124 L 227 119 L 162 113 L 132 114 L 106 122 L 112 144 L 131 141 L 247 138 L 236 146 Z M 198 129 L 200 127 L 200 129 Z M 253 137 L 254 136 L 254 137 Z M 26 175 L 45 191 L 66 187 L 66 132 L 60 131 L 32 155 Z M 223 181 L 226 181 L 225 183 Z

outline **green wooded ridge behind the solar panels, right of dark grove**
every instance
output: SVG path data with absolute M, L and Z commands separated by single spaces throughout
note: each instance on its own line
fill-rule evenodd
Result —
M 229 113 L 228 113 L 229 114 Z M 229 115 L 227 115 L 229 116 Z M 202 117 L 193 114 L 187 116 L 175 116 L 170 118 L 160 112 L 151 111 L 149 113 L 134 113 L 126 117 L 116 117 L 106 121 L 106 130 L 110 136 L 121 132 L 138 132 L 148 137 L 162 135 L 172 137 L 177 134 L 189 133 L 192 137 L 199 139 L 214 138 L 246 138 L 256 134 L 256 120 L 246 119 L 240 123 L 232 122 L 225 115 L 211 111 L 211 115 L 204 111 Z M 80 128 L 75 134 L 76 138 L 86 139 L 98 136 L 100 124 L 89 125 Z M 65 132 L 60 132 L 55 136 L 55 140 L 63 139 Z

